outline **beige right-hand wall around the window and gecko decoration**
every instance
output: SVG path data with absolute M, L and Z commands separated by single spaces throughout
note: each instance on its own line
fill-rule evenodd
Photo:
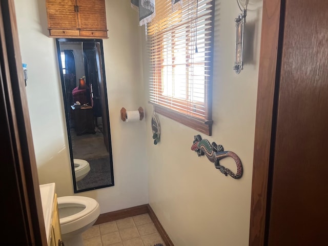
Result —
M 155 146 L 148 114 L 149 202 L 176 246 L 248 245 L 261 5 L 250 0 L 245 66 L 236 74 L 234 18 L 240 10 L 236 1 L 216 1 L 212 136 L 159 115 L 161 141 Z M 147 79 L 144 83 L 147 100 Z M 147 111 L 152 112 L 149 104 Z M 243 163 L 243 177 L 226 177 L 207 157 L 191 151 L 197 134 L 235 152 Z M 232 159 L 220 163 L 236 170 Z

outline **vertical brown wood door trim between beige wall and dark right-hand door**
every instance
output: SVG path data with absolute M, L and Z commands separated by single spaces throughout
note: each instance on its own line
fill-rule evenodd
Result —
M 250 246 L 264 245 L 265 242 L 274 95 L 276 73 L 279 67 L 277 58 L 280 15 L 281 0 L 263 0 L 251 196 Z

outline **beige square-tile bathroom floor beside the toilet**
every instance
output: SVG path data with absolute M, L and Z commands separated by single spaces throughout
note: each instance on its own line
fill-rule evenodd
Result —
M 97 224 L 82 235 L 85 246 L 165 246 L 149 214 Z

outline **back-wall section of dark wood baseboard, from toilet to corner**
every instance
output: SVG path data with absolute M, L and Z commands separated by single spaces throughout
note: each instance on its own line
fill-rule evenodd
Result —
M 110 221 L 118 220 L 118 219 L 125 219 L 132 216 L 137 216 L 140 214 L 147 214 L 148 207 L 147 204 L 128 208 L 128 209 L 121 209 L 105 214 L 100 214 L 94 225 L 96 224 L 103 224 Z

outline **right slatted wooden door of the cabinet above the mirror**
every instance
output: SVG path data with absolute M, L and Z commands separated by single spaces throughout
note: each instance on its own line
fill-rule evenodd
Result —
M 105 0 L 76 0 L 80 29 L 107 31 Z

